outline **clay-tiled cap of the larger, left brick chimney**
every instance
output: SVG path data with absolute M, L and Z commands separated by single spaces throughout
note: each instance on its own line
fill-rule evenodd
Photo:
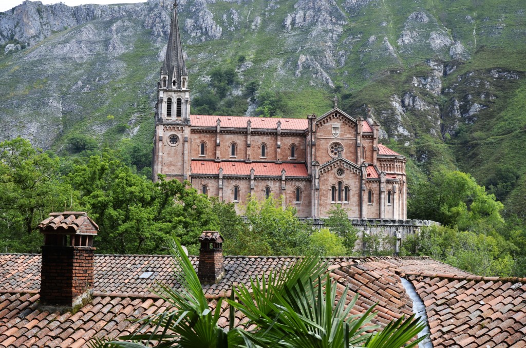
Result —
M 85 230 L 85 227 L 81 228 L 85 224 L 91 224 L 93 229 Z M 64 212 L 53 212 L 49 213 L 49 218 L 38 224 L 41 232 L 52 232 L 52 233 L 69 233 L 69 234 L 97 234 L 97 224 L 88 217 L 88 214 L 84 211 L 64 211 Z M 78 230 L 83 230 L 82 232 Z

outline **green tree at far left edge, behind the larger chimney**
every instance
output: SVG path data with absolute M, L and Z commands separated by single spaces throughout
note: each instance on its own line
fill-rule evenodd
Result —
M 78 192 L 60 178 L 60 160 L 29 141 L 0 142 L 0 247 L 39 252 L 37 224 L 53 211 L 79 209 Z

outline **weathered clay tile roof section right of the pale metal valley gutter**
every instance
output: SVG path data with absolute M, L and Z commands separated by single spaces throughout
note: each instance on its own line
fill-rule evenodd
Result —
M 408 275 L 426 304 L 435 347 L 526 346 L 526 279 Z M 502 334 L 505 333 L 505 334 Z

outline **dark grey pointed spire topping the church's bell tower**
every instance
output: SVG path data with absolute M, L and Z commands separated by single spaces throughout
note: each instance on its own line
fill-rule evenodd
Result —
M 177 1 L 174 2 L 174 13 L 171 18 L 170 36 L 168 37 L 166 57 L 163 67 L 161 68 L 161 74 L 168 75 L 168 85 L 171 88 L 178 89 L 181 88 L 181 75 L 187 75 L 185 60 L 183 58 L 183 47 L 181 46 L 181 35 L 179 33 L 179 21 L 177 20 Z M 173 81 L 176 82 L 175 86 L 173 86 Z

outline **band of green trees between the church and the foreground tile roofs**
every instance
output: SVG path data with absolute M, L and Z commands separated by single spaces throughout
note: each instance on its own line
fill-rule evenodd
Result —
M 0 142 L 0 250 L 38 253 L 36 228 L 52 211 L 87 211 L 99 225 L 98 253 L 165 254 L 176 238 L 198 253 L 203 230 L 220 231 L 231 255 L 391 255 L 395 241 L 352 227 L 344 209 L 330 211 L 326 228 L 312 229 L 279 197 L 250 200 L 245 219 L 233 203 L 197 193 L 188 183 L 144 175 L 149 156 L 140 148 L 98 149 L 89 137 L 72 137 L 70 157 L 16 138 Z M 424 228 L 402 243 L 402 255 L 429 255 L 482 275 L 526 275 L 526 224 L 468 174 L 442 169 L 410 182 L 409 218 L 442 226 Z M 175 199 L 174 199 L 175 198 Z M 365 250 L 353 248 L 357 241 Z M 353 251 L 355 250 L 355 251 Z

